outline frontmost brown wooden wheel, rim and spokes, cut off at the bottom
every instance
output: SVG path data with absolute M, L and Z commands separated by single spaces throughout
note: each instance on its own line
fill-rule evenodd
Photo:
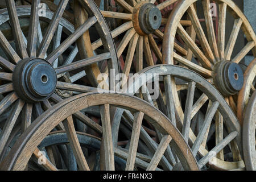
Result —
M 170 145 L 175 150 L 184 169 L 197 170 L 197 163 L 192 155 L 191 150 L 185 143 L 185 140 L 176 129 L 176 127 L 155 107 L 152 107 L 147 102 L 125 94 L 117 93 L 85 93 L 73 96 L 56 104 L 39 118 L 36 119 L 27 128 L 14 144 L 13 149 L 9 155 L 1 163 L 2 170 L 23 170 L 32 153 L 36 150 L 44 138 L 56 127 L 61 121 L 64 121 L 65 131 L 68 135 L 68 140 L 71 143 L 71 148 L 77 159 L 77 164 L 80 169 L 88 170 L 88 164 L 82 154 L 81 146 L 78 142 L 75 127 L 73 124 L 73 115 L 81 109 L 90 106 L 99 105 L 101 109 L 102 122 L 102 136 L 104 142 L 105 153 L 105 169 L 114 170 L 114 155 L 117 155 L 125 160 L 126 169 L 133 170 L 134 166 L 139 166 L 144 169 L 154 170 L 159 167 L 158 164 L 166 151 L 167 146 Z M 133 131 L 131 135 L 131 146 L 129 151 L 123 151 L 120 148 L 113 147 L 112 129 L 110 123 L 110 106 L 122 107 L 130 110 L 134 115 Z M 150 162 L 142 160 L 141 156 L 137 154 L 137 146 L 139 139 L 139 131 L 141 123 L 147 119 L 159 131 L 162 131 L 163 138 L 159 143 L 155 154 L 150 158 Z M 47 127 L 46 127 L 47 126 Z

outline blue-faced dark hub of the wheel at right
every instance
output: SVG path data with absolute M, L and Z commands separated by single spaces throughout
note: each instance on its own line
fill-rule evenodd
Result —
M 242 68 L 231 61 L 218 62 L 213 69 L 213 83 L 225 97 L 236 94 L 243 86 Z

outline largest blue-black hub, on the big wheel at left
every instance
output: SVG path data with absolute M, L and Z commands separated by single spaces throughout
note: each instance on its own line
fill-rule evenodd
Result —
M 24 59 L 13 73 L 14 90 L 22 100 L 30 103 L 49 98 L 56 89 L 57 75 L 46 60 Z

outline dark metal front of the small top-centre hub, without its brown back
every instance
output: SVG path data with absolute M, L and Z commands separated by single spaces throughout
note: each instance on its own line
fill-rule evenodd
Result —
M 162 21 L 161 11 L 152 3 L 144 3 L 139 10 L 139 26 L 145 34 L 157 30 Z

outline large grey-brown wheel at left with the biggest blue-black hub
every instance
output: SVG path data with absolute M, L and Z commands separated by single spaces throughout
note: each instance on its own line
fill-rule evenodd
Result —
M 2 118 L 4 122 L 1 123 L 2 156 L 14 126 L 19 124 L 19 118 L 24 131 L 35 118 L 51 107 L 53 102 L 49 98 L 54 92 L 66 98 L 61 94 L 65 90 L 63 85 L 70 87 L 72 82 L 84 84 L 80 78 L 85 77 L 86 65 L 108 60 L 110 69 L 114 67 L 112 63 L 117 62 L 113 39 L 94 2 L 81 1 L 88 20 L 76 31 L 71 23 L 61 18 L 68 2 L 60 1 L 55 13 L 47 9 L 40 13 L 42 10 L 38 6 L 39 0 L 32 1 L 31 7 L 15 7 L 11 0 L 6 1 L 7 9 L 0 12 L 1 25 L 9 26 L 13 32 L 13 35 L 10 31 L 0 32 L 0 46 L 4 52 L 0 57 L 0 115 L 1 118 L 7 115 L 5 119 Z M 24 27 L 20 26 L 20 22 L 26 22 L 23 18 L 29 19 Z M 104 42 L 104 49 L 101 54 L 78 60 L 75 58 L 75 42 L 92 27 Z M 76 93 L 72 92 L 67 97 L 72 94 Z M 8 112 L 10 114 L 6 114 Z

